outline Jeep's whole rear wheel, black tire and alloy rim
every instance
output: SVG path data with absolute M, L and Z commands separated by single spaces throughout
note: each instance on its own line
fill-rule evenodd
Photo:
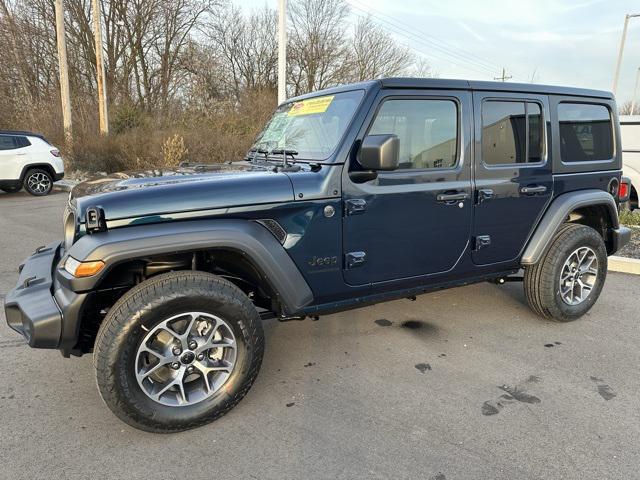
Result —
M 607 248 L 593 228 L 563 225 L 535 265 L 524 273 L 524 291 L 538 315 L 570 322 L 596 302 L 607 276 Z

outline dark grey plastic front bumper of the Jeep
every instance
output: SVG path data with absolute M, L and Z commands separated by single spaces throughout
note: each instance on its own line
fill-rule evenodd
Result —
M 77 294 L 56 281 L 61 248 L 59 242 L 40 247 L 20 265 L 18 283 L 7 294 L 4 310 L 9 327 L 31 347 L 60 348 L 68 353 L 73 345 L 65 339 L 75 343 L 70 337 L 77 332 L 75 328 L 65 332 L 64 320 L 75 327 L 86 294 Z

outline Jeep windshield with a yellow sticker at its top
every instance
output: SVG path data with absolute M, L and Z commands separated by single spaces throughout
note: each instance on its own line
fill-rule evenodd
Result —
M 338 145 L 363 95 L 363 90 L 354 90 L 281 105 L 252 150 L 295 151 L 296 158 L 325 160 Z

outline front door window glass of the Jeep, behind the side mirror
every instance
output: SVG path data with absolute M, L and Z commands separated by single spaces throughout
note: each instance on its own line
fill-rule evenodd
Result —
M 387 100 L 369 135 L 400 139 L 401 169 L 451 168 L 458 158 L 458 108 L 452 100 Z

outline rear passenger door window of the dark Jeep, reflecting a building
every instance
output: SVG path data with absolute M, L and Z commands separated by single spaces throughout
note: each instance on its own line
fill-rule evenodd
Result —
M 482 104 L 482 161 L 486 165 L 540 163 L 544 122 L 533 102 L 489 100 Z

